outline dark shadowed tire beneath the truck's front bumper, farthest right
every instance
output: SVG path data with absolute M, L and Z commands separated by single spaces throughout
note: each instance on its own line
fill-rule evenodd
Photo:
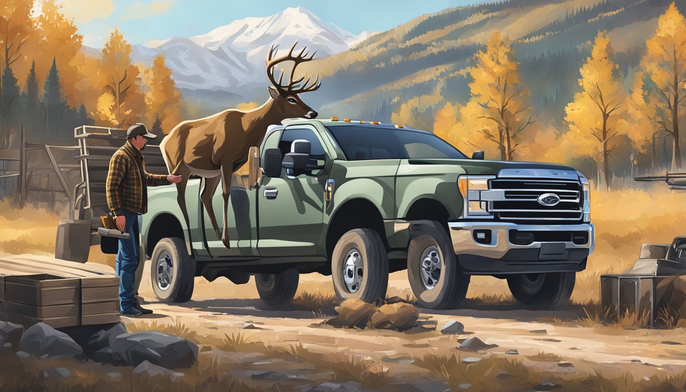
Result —
M 569 301 L 576 273 L 517 274 L 507 279 L 517 302 L 532 309 L 550 309 Z

